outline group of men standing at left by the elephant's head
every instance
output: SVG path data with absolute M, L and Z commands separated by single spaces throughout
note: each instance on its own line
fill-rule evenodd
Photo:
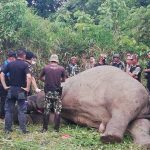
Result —
M 26 129 L 26 111 L 27 96 L 30 95 L 31 85 L 36 92 L 41 90 L 38 88 L 34 73 L 33 65 L 36 56 L 31 51 L 18 50 L 9 52 L 7 60 L 1 66 L 1 118 L 5 118 L 5 132 L 12 132 L 13 113 L 17 102 L 18 120 L 22 133 L 29 131 Z M 65 69 L 58 65 L 59 59 L 57 55 L 51 55 L 50 63 L 46 65 L 40 74 L 39 79 L 44 81 L 45 106 L 43 111 L 43 128 L 42 132 L 48 130 L 48 122 L 50 112 L 53 110 L 55 117 L 54 129 L 59 131 L 61 104 L 61 82 L 65 81 Z

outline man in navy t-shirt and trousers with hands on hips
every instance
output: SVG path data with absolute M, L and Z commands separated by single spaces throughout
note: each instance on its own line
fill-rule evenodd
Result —
M 1 73 L 1 82 L 5 90 L 8 90 L 5 102 L 5 132 L 12 132 L 13 111 L 15 103 L 18 104 L 18 120 L 22 133 L 26 134 L 26 92 L 30 90 L 31 74 L 25 63 L 25 52 L 17 52 L 17 60 L 9 63 Z M 6 84 L 5 74 L 9 73 L 9 87 Z

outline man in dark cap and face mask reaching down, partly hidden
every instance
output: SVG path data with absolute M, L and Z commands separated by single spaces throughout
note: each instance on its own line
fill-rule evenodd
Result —
M 26 63 L 28 64 L 28 67 L 32 76 L 31 84 L 33 85 L 36 92 L 40 92 L 41 90 L 38 88 L 35 77 L 34 77 L 34 71 L 33 71 L 34 58 L 35 58 L 35 55 L 31 51 L 26 52 Z M 29 92 L 29 95 L 31 95 L 31 91 Z

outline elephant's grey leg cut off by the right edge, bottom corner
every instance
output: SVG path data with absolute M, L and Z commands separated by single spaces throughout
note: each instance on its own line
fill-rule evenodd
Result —
M 150 148 L 150 121 L 147 119 L 135 120 L 129 127 L 134 142 Z

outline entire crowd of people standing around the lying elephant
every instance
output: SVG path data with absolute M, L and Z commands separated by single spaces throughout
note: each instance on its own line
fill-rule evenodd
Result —
M 150 53 L 148 53 L 150 58 Z M 7 60 L 1 66 L 0 73 L 0 102 L 1 112 L 0 117 L 5 117 L 5 132 L 12 132 L 13 112 L 17 102 L 18 120 L 22 133 L 28 133 L 26 129 L 26 111 L 27 111 L 27 96 L 31 95 L 31 85 L 35 92 L 40 92 L 34 77 L 33 65 L 36 61 L 36 56 L 31 51 L 18 50 L 17 53 L 10 51 Z M 127 72 L 130 76 L 141 81 L 142 68 L 138 63 L 136 54 L 127 54 L 126 65 L 120 60 L 119 54 L 114 54 L 110 65 L 120 68 Z M 89 61 L 85 61 L 82 67 L 77 64 L 77 58 L 71 57 L 66 69 L 59 65 L 59 59 L 56 54 L 51 55 L 49 64 L 46 65 L 39 76 L 39 79 L 44 82 L 45 104 L 43 111 L 43 127 L 42 132 L 48 130 L 50 112 L 53 111 L 54 129 L 59 131 L 60 113 L 62 109 L 61 102 L 61 82 L 65 82 L 66 77 L 71 77 L 78 74 L 81 70 L 90 69 L 97 66 L 108 65 L 106 55 L 101 54 L 98 61 L 91 56 Z M 82 69 L 81 69 L 82 68 Z M 147 69 L 144 70 L 147 74 L 147 88 L 150 90 L 150 62 Z

